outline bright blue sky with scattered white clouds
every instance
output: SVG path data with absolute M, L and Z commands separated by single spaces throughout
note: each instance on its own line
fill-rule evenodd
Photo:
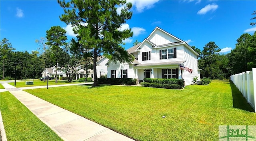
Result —
M 131 28 L 134 35 L 126 39 L 126 49 L 138 40 L 142 42 L 158 26 L 166 32 L 203 50 L 215 42 L 224 54 L 235 48 L 244 33 L 253 34 L 256 26 L 250 20 L 256 1 L 222 0 L 129 0 L 132 19 L 122 28 Z M 122 8 L 122 7 L 121 7 Z M 57 1 L 0 0 L 0 39 L 7 38 L 16 51 L 38 50 L 36 39 L 46 36 L 52 26 L 67 31 L 68 42 L 74 37 L 72 27 L 60 21 L 64 14 Z

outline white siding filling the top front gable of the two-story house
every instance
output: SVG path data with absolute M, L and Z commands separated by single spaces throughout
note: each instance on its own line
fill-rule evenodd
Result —
M 179 42 L 177 39 L 173 38 L 172 36 L 162 32 L 161 30 L 157 29 L 154 34 L 152 34 L 148 40 L 156 44 L 157 46 L 163 44 L 169 44 L 174 42 Z

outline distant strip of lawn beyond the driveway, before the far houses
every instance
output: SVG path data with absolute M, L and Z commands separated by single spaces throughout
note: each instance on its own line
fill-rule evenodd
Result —
M 71 82 L 71 83 L 84 83 L 84 82 Z M 48 85 L 62 85 L 62 84 L 71 84 L 71 83 L 68 83 L 68 81 L 66 80 L 58 80 L 58 83 L 55 83 L 55 80 L 48 80 Z M 14 86 L 14 82 L 9 84 Z M 26 81 L 22 81 L 22 82 L 16 81 L 15 87 L 33 87 L 33 86 L 44 86 L 44 85 L 45 86 L 47 85 L 47 80 L 45 82 L 40 80 L 34 80 L 33 85 L 26 85 Z

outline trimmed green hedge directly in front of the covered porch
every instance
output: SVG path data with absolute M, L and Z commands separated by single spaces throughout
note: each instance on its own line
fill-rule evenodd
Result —
M 159 79 L 159 78 L 144 78 L 144 82 L 148 83 L 159 83 L 159 84 L 178 84 L 181 89 L 184 86 L 183 79 Z

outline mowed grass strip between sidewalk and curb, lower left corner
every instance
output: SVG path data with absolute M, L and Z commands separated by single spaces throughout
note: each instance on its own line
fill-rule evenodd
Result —
M 0 93 L 0 107 L 8 141 L 62 141 L 9 91 Z

